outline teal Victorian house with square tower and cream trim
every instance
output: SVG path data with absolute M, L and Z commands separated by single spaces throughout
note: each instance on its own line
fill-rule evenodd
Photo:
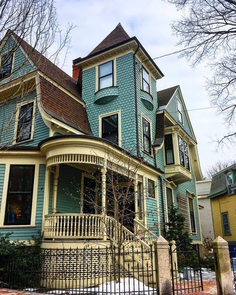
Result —
M 73 77 L 15 34 L 0 43 L 0 233 L 43 249 L 106 247 L 136 237 L 148 249 L 170 206 L 201 242 L 197 142 L 179 86 L 118 26 Z M 80 247 L 79 246 L 79 247 Z M 94 250 L 95 251 L 95 250 Z

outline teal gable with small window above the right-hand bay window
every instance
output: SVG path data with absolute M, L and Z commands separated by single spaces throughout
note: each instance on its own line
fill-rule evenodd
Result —
M 183 116 L 183 124 L 178 120 L 178 110 L 177 110 L 177 100 L 179 100 L 182 104 L 182 116 Z M 175 93 L 169 100 L 166 109 L 170 116 L 177 122 L 181 128 L 192 138 L 195 140 L 195 136 L 192 130 L 192 126 L 189 120 L 188 112 L 185 107 L 185 103 L 179 88 L 176 89 Z

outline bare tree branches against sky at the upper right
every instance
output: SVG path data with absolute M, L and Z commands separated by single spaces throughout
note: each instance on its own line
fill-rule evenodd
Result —
M 180 20 L 172 23 L 184 46 L 180 57 L 196 66 L 206 62 L 213 71 L 207 79 L 211 104 L 224 114 L 228 125 L 218 143 L 236 141 L 236 1 L 235 0 L 167 0 L 183 10 Z

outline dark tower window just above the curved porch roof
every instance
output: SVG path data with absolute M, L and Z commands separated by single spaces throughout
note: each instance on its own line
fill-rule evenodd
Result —
M 102 118 L 102 138 L 118 145 L 118 114 Z

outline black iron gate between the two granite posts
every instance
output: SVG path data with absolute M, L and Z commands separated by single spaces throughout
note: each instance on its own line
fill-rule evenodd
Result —
M 170 248 L 172 294 L 203 291 L 199 245 Z

